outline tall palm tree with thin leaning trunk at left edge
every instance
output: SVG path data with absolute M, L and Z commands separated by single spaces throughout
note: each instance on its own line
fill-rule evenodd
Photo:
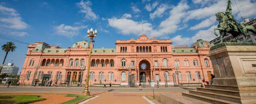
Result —
M 6 59 L 7 55 L 8 55 L 8 52 L 10 52 L 10 51 L 13 52 L 13 51 L 15 51 L 15 49 L 16 49 L 16 45 L 15 45 L 15 43 L 12 42 L 12 41 L 6 42 L 6 44 L 4 44 L 4 45 L 2 46 L 2 50 L 6 52 L 5 57 L 4 57 L 4 62 L 5 62 L 5 59 Z M 4 65 L 4 62 L 3 62 L 3 64 L 2 64 L 2 67 L 0 68 L 0 74 L 1 74 L 1 71 L 2 71 L 2 68 L 3 68 L 3 65 Z

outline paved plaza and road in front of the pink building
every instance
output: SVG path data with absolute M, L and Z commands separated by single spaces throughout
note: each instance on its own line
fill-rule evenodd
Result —
M 168 88 L 142 88 L 143 90 L 139 91 L 139 88 L 112 88 L 111 91 L 108 91 L 108 88 L 100 87 L 91 87 L 89 91 L 91 95 L 98 96 L 86 104 L 148 104 L 149 102 L 143 98 L 146 95 L 153 95 L 153 89 L 155 96 L 159 94 L 168 94 L 168 93 L 180 93 L 188 92 L 188 90 L 195 89 L 195 87 L 168 87 Z M 0 93 L 2 94 L 14 94 L 14 93 L 26 93 L 26 94 L 39 94 L 41 96 L 46 96 L 45 94 L 82 94 L 84 87 L 15 87 L 11 86 L 6 88 L 6 86 L 0 86 Z M 60 95 L 59 95 L 60 96 Z M 60 96 L 62 98 L 63 96 Z M 58 98 L 55 97 L 55 100 Z M 48 100 L 48 101 L 47 101 Z M 35 104 L 42 104 L 44 102 L 51 102 L 51 97 L 45 101 L 39 101 Z M 155 104 L 159 102 L 153 101 Z M 51 103 L 48 103 L 51 104 Z

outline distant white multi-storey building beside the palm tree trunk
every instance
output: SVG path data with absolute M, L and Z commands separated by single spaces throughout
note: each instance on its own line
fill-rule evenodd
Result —
M 15 74 L 17 75 L 19 71 L 19 67 L 14 66 L 13 63 L 8 63 L 4 65 L 1 71 L 1 74 Z

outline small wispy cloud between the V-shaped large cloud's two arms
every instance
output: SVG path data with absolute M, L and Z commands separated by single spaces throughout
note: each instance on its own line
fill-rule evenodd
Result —
M 163 16 L 163 13 L 169 9 L 170 6 L 167 5 L 167 4 L 162 4 L 160 5 L 159 7 L 157 7 L 157 9 L 155 10 L 154 13 L 150 13 L 149 16 L 150 16 L 150 19 L 154 19 L 156 17 L 162 17 Z

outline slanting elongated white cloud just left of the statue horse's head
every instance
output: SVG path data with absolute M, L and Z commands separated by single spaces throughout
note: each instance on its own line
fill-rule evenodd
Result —
M 209 27 L 213 25 L 215 22 L 216 22 L 216 17 L 215 15 L 213 15 L 210 18 L 207 18 L 201 21 L 199 24 L 196 24 L 195 26 L 190 27 L 190 30 L 197 30 L 197 29 Z

